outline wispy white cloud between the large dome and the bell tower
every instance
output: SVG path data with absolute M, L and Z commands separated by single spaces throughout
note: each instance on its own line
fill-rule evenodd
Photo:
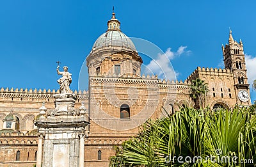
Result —
M 189 54 L 191 51 L 186 51 L 186 48 L 187 46 L 180 46 L 176 52 L 173 52 L 169 47 L 163 54 L 159 53 L 156 59 L 146 65 L 145 74 L 157 74 L 161 79 L 175 80 L 179 72 L 175 72 L 170 60 L 182 54 Z

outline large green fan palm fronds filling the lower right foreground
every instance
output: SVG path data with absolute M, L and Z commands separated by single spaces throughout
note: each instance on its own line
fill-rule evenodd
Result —
M 243 159 L 256 162 L 256 118 L 248 110 L 188 108 L 166 118 L 148 120 L 138 136 L 117 147 L 109 166 L 255 166 L 238 163 Z M 179 156 L 184 163 L 177 161 Z M 185 162 L 188 156 L 191 162 Z M 214 156 L 216 162 L 209 159 Z M 222 159 L 235 156 L 236 162 Z

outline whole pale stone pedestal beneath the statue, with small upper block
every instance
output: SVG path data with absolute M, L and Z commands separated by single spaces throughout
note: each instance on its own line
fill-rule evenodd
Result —
M 44 140 L 43 166 L 84 166 L 84 136 L 88 116 L 74 109 L 76 96 L 56 95 L 55 109 L 42 115 L 35 125 Z M 45 108 L 46 109 L 46 108 Z M 39 139 L 40 139 L 39 138 Z M 39 145 L 38 141 L 38 152 Z M 40 155 L 39 160 L 40 161 Z M 42 161 L 42 159 L 41 159 Z M 41 162 L 36 162 L 39 166 Z

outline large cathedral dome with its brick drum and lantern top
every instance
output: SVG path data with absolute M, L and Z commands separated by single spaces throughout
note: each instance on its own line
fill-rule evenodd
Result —
M 108 30 L 97 38 L 86 58 L 89 76 L 140 75 L 143 63 L 132 40 L 122 33 L 115 12 L 108 20 Z

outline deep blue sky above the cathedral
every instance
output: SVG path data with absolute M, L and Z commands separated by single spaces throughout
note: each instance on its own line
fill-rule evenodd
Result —
M 235 40 L 243 40 L 250 55 L 249 79 L 256 78 L 256 1 L 17 0 L 0 1 L 0 87 L 58 89 L 60 60 L 72 73 L 70 87 L 77 89 L 81 65 L 106 31 L 112 6 L 127 36 L 148 40 L 164 52 L 186 47 L 171 60 L 179 80 L 198 66 L 221 67 L 228 28 Z

